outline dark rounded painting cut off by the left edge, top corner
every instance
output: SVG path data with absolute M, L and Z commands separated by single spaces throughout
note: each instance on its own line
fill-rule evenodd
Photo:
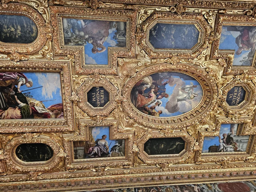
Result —
M 0 41 L 4 43 L 32 43 L 38 29 L 34 21 L 26 16 L 0 15 Z

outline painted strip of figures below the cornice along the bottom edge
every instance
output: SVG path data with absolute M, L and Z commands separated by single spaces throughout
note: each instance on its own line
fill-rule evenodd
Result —
M 255 181 L 201 183 L 186 185 L 164 185 L 138 188 L 98 190 L 100 192 L 252 192 L 256 190 Z M 97 192 L 98 192 L 97 191 Z M 96 192 L 96 191 L 89 191 Z

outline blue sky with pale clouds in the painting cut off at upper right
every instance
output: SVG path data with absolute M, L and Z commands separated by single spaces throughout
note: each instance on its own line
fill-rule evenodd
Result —
M 236 37 L 240 35 L 239 31 L 228 31 L 228 26 L 223 26 L 221 31 L 221 37 L 220 37 L 220 46 L 219 49 L 225 49 L 225 50 L 238 50 L 238 46 L 235 43 Z M 249 51 L 242 51 L 240 55 L 235 54 L 233 65 L 242 65 L 240 62 L 243 57 L 248 58 Z

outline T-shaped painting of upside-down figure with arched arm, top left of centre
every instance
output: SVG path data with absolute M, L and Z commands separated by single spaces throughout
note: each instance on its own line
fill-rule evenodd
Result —
M 126 47 L 126 22 L 63 18 L 64 44 L 84 46 L 85 64 L 108 65 L 108 47 Z

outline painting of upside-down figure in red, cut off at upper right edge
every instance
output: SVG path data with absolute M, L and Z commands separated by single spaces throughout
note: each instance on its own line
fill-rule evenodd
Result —
M 251 66 L 255 43 L 256 26 L 222 26 L 219 49 L 235 50 L 233 65 Z

